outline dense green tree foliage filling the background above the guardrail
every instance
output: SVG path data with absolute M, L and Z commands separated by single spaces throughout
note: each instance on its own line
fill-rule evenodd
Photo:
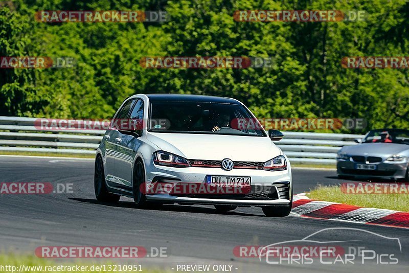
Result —
M 237 22 L 236 10 L 365 10 L 365 21 Z M 39 10 L 166 10 L 154 23 L 44 23 Z M 409 125 L 409 70 L 344 69 L 345 56 L 409 56 L 409 2 L 67 1 L 0 4 L 0 56 L 65 56 L 74 68 L 0 70 L 0 115 L 109 118 L 138 93 L 234 97 L 259 118 Z M 263 69 L 144 69 L 144 56 L 274 57 Z M 364 129 L 363 131 L 366 131 Z M 348 130 L 338 130 L 348 132 Z M 354 131 L 356 133 L 363 131 Z

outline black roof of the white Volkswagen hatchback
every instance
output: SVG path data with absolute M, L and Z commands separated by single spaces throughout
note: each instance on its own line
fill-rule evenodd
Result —
M 185 95 L 185 94 L 146 94 L 149 101 L 190 101 L 190 102 L 214 102 L 214 103 L 230 103 L 241 105 L 235 99 L 204 96 L 204 95 Z

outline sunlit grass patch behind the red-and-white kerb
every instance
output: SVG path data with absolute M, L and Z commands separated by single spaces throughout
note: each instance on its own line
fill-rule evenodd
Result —
M 328 202 L 345 203 L 359 207 L 389 209 L 409 212 L 409 194 L 346 194 L 339 186 L 319 186 L 309 198 Z

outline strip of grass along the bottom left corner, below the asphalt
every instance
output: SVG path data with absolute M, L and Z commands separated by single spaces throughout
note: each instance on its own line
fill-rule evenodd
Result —
M 106 266 L 108 265 L 112 265 L 112 270 L 111 271 L 104 271 L 104 270 L 91 270 L 91 267 L 93 265 L 95 266 L 101 266 L 105 264 Z M 35 256 L 28 256 L 28 255 L 18 255 L 18 254 L 0 254 L 0 272 L 12 272 L 12 270 L 14 269 L 14 272 L 18 272 L 20 265 L 23 265 L 24 267 L 22 268 L 21 272 L 27 272 L 27 273 L 43 273 L 43 272 L 58 272 L 58 273 L 72 273 L 72 272 L 81 272 L 81 273 L 90 273 L 90 272 L 139 272 L 139 271 L 119 271 L 119 267 L 117 267 L 117 271 L 114 271 L 114 267 L 115 265 L 125 265 L 125 264 L 138 264 L 137 261 L 135 262 L 126 262 L 126 263 L 121 263 L 121 262 L 112 262 L 112 261 L 106 261 L 106 260 L 101 260 L 98 259 L 94 262 L 73 262 L 70 260 L 67 261 L 61 261 L 58 260 L 53 260 L 53 259 L 43 259 L 43 258 L 37 258 Z M 12 267 L 8 267 L 6 268 L 5 266 L 15 266 L 15 268 Z M 66 270 L 63 270 L 64 268 L 56 268 L 56 266 L 84 266 L 83 268 L 80 268 L 80 271 L 76 271 L 76 268 L 74 267 L 73 270 L 70 270 L 69 268 L 65 268 Z M 1 266 L 5 267 L 5 268 L 1 268 Z M 36 268 L 33 268 L 33 266 L 37 266 Z M 42 266 L 42 268 L 39 268 L 39 266 Z M 54 268 L 49 268 L 48 266 L 54 266 Z M 85 266 L 87 266 L 87 268 L 85 268 Z M 28 268 L 29 267 L 29 268 Z M 106 267 L 107 268 L 107 267 Z M 42 270 L 41 270 L 42 269 Z M 61 270 L 60 270 L 61 269 Z M 82 269 L 86 269 L 86 270 L 82 270 Z M 146 269 L 143 265 L 142 265 L 142 270 L 143 272 L 147 272 L 147 273 L 159 273 L 159 272 L 163 272 L 163 270 L 160 269 Z

